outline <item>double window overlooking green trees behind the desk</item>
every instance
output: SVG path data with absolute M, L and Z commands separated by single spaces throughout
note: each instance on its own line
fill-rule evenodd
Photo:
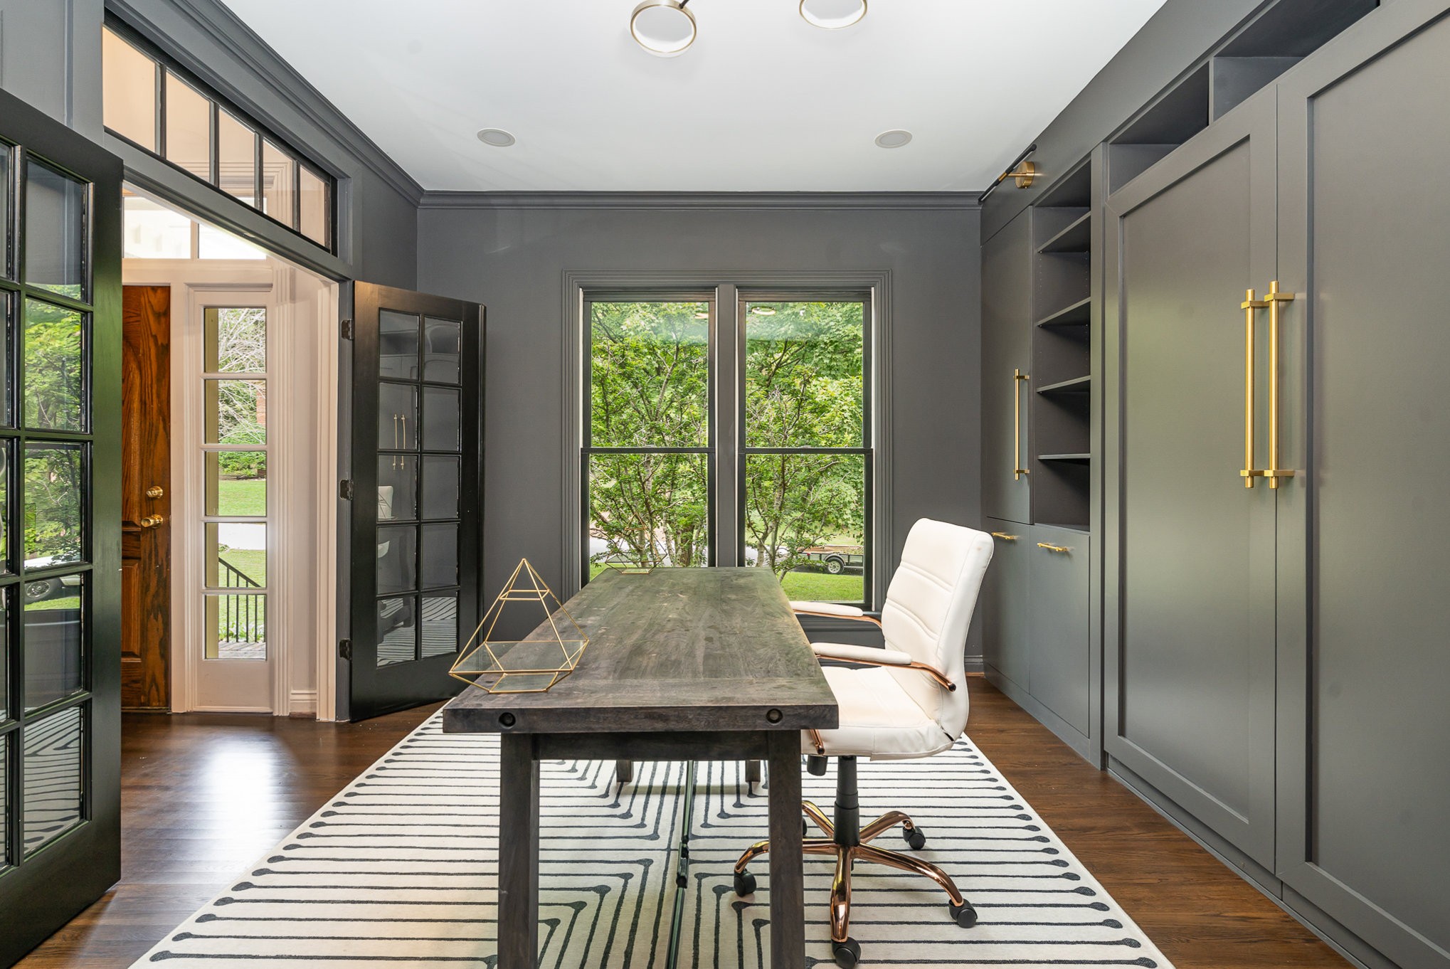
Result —
M 713 294 L 586 297 L 581 580 L 747 564 L 793 599 L 870 602 L 869 296 L 716 309 Z

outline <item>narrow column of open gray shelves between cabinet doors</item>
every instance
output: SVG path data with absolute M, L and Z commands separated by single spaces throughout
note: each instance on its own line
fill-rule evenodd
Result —
M 1032 518 L 1088 531 L 1092 467 L 1092 164 L 1032 207 Z

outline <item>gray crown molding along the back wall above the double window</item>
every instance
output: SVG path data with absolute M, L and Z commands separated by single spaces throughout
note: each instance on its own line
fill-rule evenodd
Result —
M 419 209 L 963 212 L 976 191 L 425 191 Z

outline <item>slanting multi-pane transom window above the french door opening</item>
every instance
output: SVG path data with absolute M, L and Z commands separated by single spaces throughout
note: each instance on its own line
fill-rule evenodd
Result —
M 112 25 L 102 41 L 106 129 L 318 245 L 334 245 L 334 180 L 233 104 Z

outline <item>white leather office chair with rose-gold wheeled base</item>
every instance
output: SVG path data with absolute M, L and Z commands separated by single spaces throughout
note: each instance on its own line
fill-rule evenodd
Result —
M 874 862 L 925 875 L 950 899 L 951 918 L 958 925 L 976 924 L 976 910 L 961 896 L 951 878 L 935 865 L 900 852 L 870 844 L 877 836 L 902 825 L 912 849 L 927 843 L 922 830 L 900 811 L 889 811 L 860 827 L 856 792 L 856 759 L 909 760 L 950 749 L 967 727 L 967 683 L 963 653 L 967 625 L 987 563 L 992 538 L 970 528 L 921 519 L 912 525 L 902 551 L 902 564 L 886 590 L 880 619 L 857 609 L 826 602 L 792 602 L 800 615 L 829 615 L 876 622 L 886 648 L 816 643 L 816 656 L 854 663 L 825 667 L 826 682 L 841 706 L 835 730 L 806 731 L 802 750 L 811 772 L 825 773 L 825 759 L 837 759 L 835 817 L 809 801 L 805 815 L 825 838 L 808 838 L 805 853 L 835 857 L 831 882 L 831 950 L 840 966 L 854 966 L 861 947 L 848 934 L 851 920 L 851 866 Z M 768 841 L 753 844 L 735 862 L 735 892 L 750 895 L 755 878 L 747 865 L 770 850 Z

